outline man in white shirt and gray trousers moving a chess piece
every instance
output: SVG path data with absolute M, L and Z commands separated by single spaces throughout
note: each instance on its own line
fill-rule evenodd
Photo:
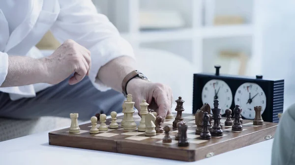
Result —
M 44 56 L 34 47 L 50 30 L 63 43 Z M 69 117 L 121 112 L 146 99 L 171 114 L 171 89 L 137 70 L 132 47 L 91 0 L 0 1 L 0 117 Z M 124 95 L 123 95 L 123 94 Z

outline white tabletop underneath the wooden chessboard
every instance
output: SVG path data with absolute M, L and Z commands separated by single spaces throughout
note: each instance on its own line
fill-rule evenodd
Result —
M 273 142 L 260 142 L 197 162 L 180 162 L 53 146 L 48 144 L 48 132 L 0 142 L 0 165 L 270 165 Z

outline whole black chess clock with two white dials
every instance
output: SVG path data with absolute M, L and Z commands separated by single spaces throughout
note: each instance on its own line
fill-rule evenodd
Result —
M 264 121 L 279 121 L 278 114 L 283 113 L 284 79 L 220 74 L 219 70 L 216 65 L 215 73 L 194 74 L 193 114 L 204 103 L 212 106 L 213 100 L 218 99 L 222 116 L 226 109 L 233 111 L 237 104 L 242 109 L 242 118 L 254 119 L 254 106 L 262 106 Z

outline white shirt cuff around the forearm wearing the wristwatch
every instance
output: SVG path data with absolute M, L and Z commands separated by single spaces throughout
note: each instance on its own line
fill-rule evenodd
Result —
M 96 78 L 99 69 L 120 56 L 129 56 L 135 59 L 134 51 L 129 42 L 122 37 L 109 38 L 89 48 L 91 52 L 91 68 L 89 79 L 93 86 L 102 92 L 110 90 L 111 87 Z

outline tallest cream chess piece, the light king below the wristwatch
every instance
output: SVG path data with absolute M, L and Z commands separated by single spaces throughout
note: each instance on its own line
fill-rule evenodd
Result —
M 136 130 L 137 125 L 134 121 L 133 114 L 134 114 L 134 104 L 135 102 L 132 101 L 132 94 L 127 94 L 127 102 L 125 102 L 126 110 L 125 114 L 127 114 L 125 123 L 124 123 L 124 130 Z

